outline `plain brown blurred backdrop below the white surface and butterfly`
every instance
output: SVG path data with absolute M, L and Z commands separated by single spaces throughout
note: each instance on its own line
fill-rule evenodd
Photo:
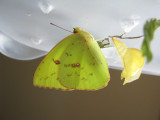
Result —
M 160 120 L 160 77 L 142 74 L 123 86 L 121 71 L 110 69 L 104 89 L 49 90 L 32 84 L 41 59 L 0 54 L 0 120 Z

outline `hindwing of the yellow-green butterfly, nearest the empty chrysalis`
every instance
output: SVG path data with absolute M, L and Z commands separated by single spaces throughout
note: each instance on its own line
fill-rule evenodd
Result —
M 87 38 L 87 39 L 86 39 Z M 80 37 L 62 55 L 59 69 L 62 85 L 71 89 L 96 90 L 107 85 L 110 75 L 106 59 L 92 37 Z

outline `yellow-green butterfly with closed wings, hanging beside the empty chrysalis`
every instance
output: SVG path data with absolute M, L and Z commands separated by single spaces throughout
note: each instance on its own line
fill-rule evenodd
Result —
M 59 42 L 34 74 L 34 86 L 62 90 L 97 90 L 110 79 L 107 61 L 92 35 L 80 28 Z

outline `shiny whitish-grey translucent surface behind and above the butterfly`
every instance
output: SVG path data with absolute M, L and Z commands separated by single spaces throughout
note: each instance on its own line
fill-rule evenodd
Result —
M 80 27 L 95 39 L 112 35 L 143 35 L 143 26 L 151 18 L 160 18 L 160 0 L 0 0 L 0 52 L 18 60 L 44 56 L 70 32 Z M 154 59 L 143 72 L 160 75 L 160 30 L 151 48 Z M 132 48 L 141 49 L 143 38 L 123 39 Z M 102 49 L 111 68 L 122 69 L 114 45 Z

